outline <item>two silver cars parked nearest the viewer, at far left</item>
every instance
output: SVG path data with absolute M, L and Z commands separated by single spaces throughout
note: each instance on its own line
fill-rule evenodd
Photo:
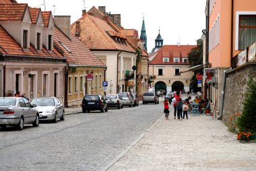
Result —
M 18 130 L 24 124 L 38 127 L 39 121 L 65 120 L 63 104 L 55 97 L 34 98 L 29 102 L 24 97 L 0 98 L 0 127 L 15 126 Z

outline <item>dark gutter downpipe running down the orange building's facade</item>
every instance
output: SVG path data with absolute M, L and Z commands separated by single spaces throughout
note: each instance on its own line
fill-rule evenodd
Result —
M 232 63 L 232 57 L 233 57 L 233 27 L 234 27 L 234 0 L 231 0 L 231 46 L 230 46 L 230 63 Z M 230 68 L 232 69 L 232 68 Z M 223 92 L 222 92 L 222 106 L 221 106 L 221 111 L 220 111 L 220 116 L 218 116 L 218 120 L 222 120 L 223 116 L 223 105 L 224 105 L 224 90 L 226 87 L 226 71 L 230 70 L 227 69 L 224 71 L 224 76 L 223 76 Z

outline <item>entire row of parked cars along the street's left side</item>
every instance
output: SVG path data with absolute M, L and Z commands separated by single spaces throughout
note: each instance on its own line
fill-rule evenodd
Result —
M 143 104 L 159 103 L 159 98 L 154 92 L 143 94 Z M 123 108 L 123 106 L 139 106 L 139 97 L 136 93 L 122 92 L 107 94 L 106 96 L 90 94 L 82 100 L 82 111 L 100 110 L 107 112 L 108 108 Z M 56 97 L 34 98 L 29 102 L 24 97 L 0 98 L 0 127 L 15 126 L 18 130 L 24 124 L 38 127 L 39 121 L 65 120 L 65 110 L 61 101 Z

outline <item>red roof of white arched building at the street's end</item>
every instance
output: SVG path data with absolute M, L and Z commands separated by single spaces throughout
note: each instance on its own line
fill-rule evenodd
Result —
M 184 55 L 185 53 L 189 53 L 191 51 L 191 48 L 196 47 L 196 45 L 164 45 L 162 48 L 160 48 L 156 53 L 156 57 L 152 59 L 150 64 L 154 65 L 189 65 L 189 63 L 183 63 L 182 62 L 182 54 Z M 150 54 L 150 57 L 152 57 L 154 54 Z M 169 57 L 169 63 L 164 63 L 163 57 Z M 173 58 L 174 57 L 179 57 L 180 62 L 179 63 L 174 63 Z

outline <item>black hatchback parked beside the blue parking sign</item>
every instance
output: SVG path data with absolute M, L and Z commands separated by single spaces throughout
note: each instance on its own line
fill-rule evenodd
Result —
M 90 113 L 91 110 L 108 111 L 108 104 L 103 96 L 97 94 L 87 94 L 82 101 L 82 111 Z

